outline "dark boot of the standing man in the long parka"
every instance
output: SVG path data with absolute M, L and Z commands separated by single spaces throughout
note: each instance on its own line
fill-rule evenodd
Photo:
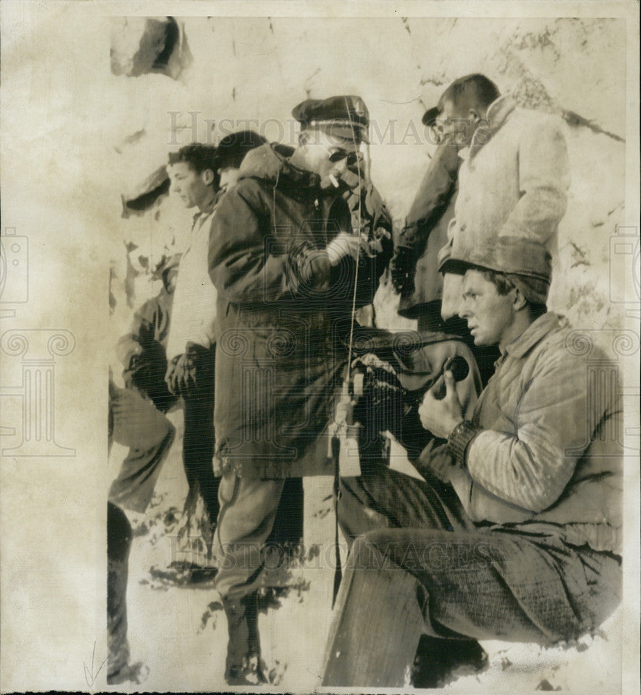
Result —
M 240 599 L 222 600 L 229 632 L 225 662 L 228 685 L 260 685 L 267 682 L 261 665 L 257 599 L 257 592 L 254 591 Z

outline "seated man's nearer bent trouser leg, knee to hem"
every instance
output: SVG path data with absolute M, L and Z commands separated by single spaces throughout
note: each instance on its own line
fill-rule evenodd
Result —
M 381 556 L 386 560 L 383 572 L 378 571 Z M 385 630 L 373 634 L 371 605 L 401 645 L 415 639 L 416 615 L 422 631 L 434 637 L 550 643 L 597 627 L 614 610 L 620 578 L 616 557 L 587 546 L 567 546 L 553 534 L 371 532 L 352 548 L 327 649 L 324 685 L 402 685 L 399 679 L 411 649 L 391 647 Z M 390 583 L 403 594 L 396 598 L 401 613 L 385 598 Z M 366 590 L 360 588 L 364 584 Z M 379 594 L 384 597 L 380 603 L 375 602 Z M 391 657 L 384 662 L 387 649 L 398 663 Z M 385 663 L 386 670 L 379 663 Z

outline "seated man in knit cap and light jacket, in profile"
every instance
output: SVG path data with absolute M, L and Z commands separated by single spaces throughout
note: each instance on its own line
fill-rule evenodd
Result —
M 445 398 L 429 392 L 421 404 L 423 426 L 442 438 L 421 459 L 455 491 L 463 515 L 450 528 L 428 515 L 416 521 L 423 498 L 439 503 L 429 485 L 404 496 L 403 514 L 393 492 L 371 497 L 397 528 L 352 546 L 325 686 L 403 685 L 423 634 L 453 646 L 549 644 L 594 630 L 619 602 L 615 367 L 599 354 L 608 378 L 589 379 L 585 354 L 546 311 L 551 265 L 542 246 L 501 238 L 448 263 L 448 272 L 464 271 L 460 315 L 476 343 L 498 343 L 502 355 L 469 421 L 449 373 Z

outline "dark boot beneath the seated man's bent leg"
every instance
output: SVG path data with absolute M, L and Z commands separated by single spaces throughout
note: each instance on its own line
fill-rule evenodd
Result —
M 415 688 L 443 687 L 459 667 L 466 667 L 471 673 L 487 667 L 487 654 L 476 639 L 438 639 L 423 635 L 414 657 L 412 685 Z

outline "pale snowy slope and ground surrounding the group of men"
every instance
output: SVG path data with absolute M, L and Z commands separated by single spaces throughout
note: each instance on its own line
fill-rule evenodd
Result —
M 166 161 L 168 149 L 190 140 L 216 141 L 225 134 L 223 126 L 241 127 L 248 117 L 268 138 L 292 144 L 294 104 L 309 96 L 353 93 L 361 95 L 370 108 L 375 133 L 373 179 L 398 227 L 430 156 L 422 129 L 415 131 L 423 111 L 436 103 L 455 77 L 485 72 L 502 91 L 512 92 L 519 105 L 553 113 L 564 122 L 572 184 L 559 231 L 549 306 L 606 347 L 621 332 L 622 311 L 615 302 L 628 282 L 627 265 L 617 265 L 624 259 L 613 255 L 611 247 L 621 234 L 617 225 L 626 219 L 622 22 L 185 17 L 179 25 L 188 50 L 183 46 L 185 50 L 176 54 L 181 63 L 174 68 L 182 67 L 179 78 L 171 79 L 153 71 L 131 73 L 129 59 L 138 50 L 136 39 L 145 25 L 124 18 L 113 22 L 112 74 L 104 81 L 113 107 L 104 137 L 117 146 L 105 167 L 113 177 L 101 181 L 107 193 L 113 195 L 117 187 L 123 196 L 129 195 Z M 327 50 L 327 36 L 332 50 Z M 374 36 L 393 50 L 373 54 Z M 293 47 L 297 50 L 292 51 Z M 212 60 L 212 56 L 230 59 Z M 162 106 L 149 108 L 150 104 Z M 95 198 L 111 201 L 100 190 Z M 104 218 L 112 249 L 120 249 L 113 255 L 111 284 L 112 332 L 117 338 L 127 329 L 129 302 L 140 304 L 158 289 L 149 284 L 149 270 L 139 267 L 138 261 L 151 267 L 162 254 L 175 250 L 181 233 L 188 229 L 188 215 L 169 197 L 142 217 L 126 220 L 112 204 Z M 136 245 L 129 259 L 122 239 Z M 139 275 L 133 296 L 125 297 L 127 262 Z M 391 286 L 382 285 L 375 299 L 379 327 L 414 327 L 398 316 L 397 304 Z M 179 427 L 180 414 L 173 417 Z M 403 466 L 400 459 L 395 461 Z M 132 659 L 149 668 L 141 687 L 220 689 L 224 687 L 226 623 L 222 610 L 216 610 L 215 589 L 211 582 L 177 587 L 162 578 L 176 559 L 175 542 L 163 532 L 163 515 L 172 507 L 180 509 L 186 492 L 179 437 L 156 491 L 157 504 L 149 514 L 158 516 L 158 522 L 136 537 L 130 561 Z M 330 493 L 331 480 L 305 480 L 304 541 L 308 549 L 318 546 L 319 555 L 314 566 L 307 562 L 305 569 L 293 572 L 292 588 L 260 616 L 270 680 L 286 692 L 309 692 L 320 678 L 331 621 L 333 573 L 331 563 L 324 560 L 332 551 Z M 489 656 L 488 669 L 461 674 L 448 684 L 448 692 L 615 693 L 621 669 L 621 617 L 611 619 L 596 637 L 571 646 L 544 649 L 487 642 L 483 646 Z

